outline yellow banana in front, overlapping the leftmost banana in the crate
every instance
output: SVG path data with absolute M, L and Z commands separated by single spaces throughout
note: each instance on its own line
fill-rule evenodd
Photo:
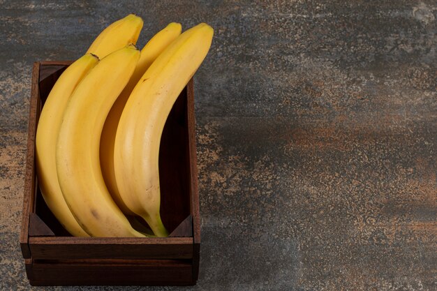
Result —
M 59 129 L 59 185 L 76 221 L 93 237 L 145 237 L 112 200 L 99 161 L 105 118 L 139 58 L 140 51 L 133 45 L 103 58 L 77 85 Z

